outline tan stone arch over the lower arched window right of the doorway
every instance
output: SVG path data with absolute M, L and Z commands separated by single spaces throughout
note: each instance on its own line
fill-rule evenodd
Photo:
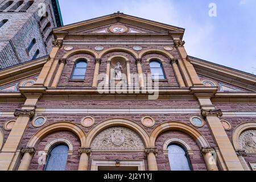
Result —
M 193 127 L 180 123 L 180 122 L 164 122 L 158 126 L 155 127 L 155 129 L 151 132 L 150 135 L 150 144 L 151 146 L 155 146 L 155 140 L 158 138 L 158 136 L 165 131 L 169 130 L 178 130 L 182 131 L 189 136 L 191 136 L 193 139 L 195 139 L 196 143 L 199 145 L 199 147 L 209 147 L 209 143 L 207 140 L 199 133 L 199 131 L 193 129 Z

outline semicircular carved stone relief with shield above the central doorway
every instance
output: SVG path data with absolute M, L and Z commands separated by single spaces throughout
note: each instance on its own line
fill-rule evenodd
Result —
M 133 130 L 125 127 L 111 127 L 101 131 L 93 139 L 91 149 L 100 151 L 144 150 L 144 144 L 141 137 Z

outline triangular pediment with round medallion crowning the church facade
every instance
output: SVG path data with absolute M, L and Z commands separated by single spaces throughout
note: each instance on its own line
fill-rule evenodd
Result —
M 63 27 L 54 28 L 54 32 L 69 32 L 70 34 L 164 34 L 179 32 L 183 36 L 184 28 L 154 22 L 123 13 L 114 13 L 94 19 L 85 20 Z

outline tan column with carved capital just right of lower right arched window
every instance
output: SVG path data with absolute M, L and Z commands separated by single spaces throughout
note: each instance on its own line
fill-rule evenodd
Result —
M 202 148 L 201 154 L 204 156 L 204 161 L 208 171 L 218 171 L 217 167 L 217 155 L 214 148 Z

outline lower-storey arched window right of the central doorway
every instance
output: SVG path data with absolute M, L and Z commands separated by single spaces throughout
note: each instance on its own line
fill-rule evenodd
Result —
M 179 144 L 171 144 L 167 148 L 172 171 L 191 171 L 188 156 Z

